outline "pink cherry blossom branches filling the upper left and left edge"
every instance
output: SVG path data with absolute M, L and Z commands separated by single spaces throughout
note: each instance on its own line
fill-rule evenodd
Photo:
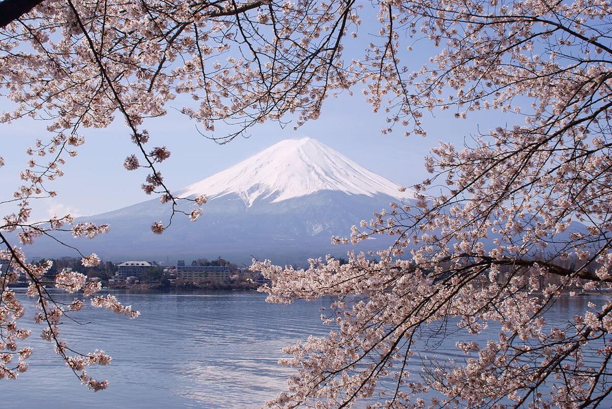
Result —
M 70 215 L 31 218 L 32 201 L 56 196 L 50 182 L 63 175 L 62 165 L 84 143 L 82 131 L 106 127 L 115 114 L 121 115 L 136 152 L 127 153 L 125 169 L 146 170 L 141 188 L 171 206 L 168 220 L 153 221 L 152 232 L 161 234 L 177 214 L 195 221 L 206 196 L 190 199 L 171 193 L 158 169 L 170 152 L 147 145 L 143 120 L 163 116 L 166 103 L 179 94 L 196 101 L 182 112 L 219 143 L 256 123 L 280 122 L 286 114 L 298 112 L 300 122 L 314 119 L 327 90 L 345 81 L 340 40 L 356 18 L 353 4 L 329 7 L 316 2 L 301 9 L 288 3 L 233 0 L 0 1 L 0 92 L 14 103 L 12 110 L 0 114 L 0 122 L 34 117 L 47 120 L 50 133 L 27 149 L 32 158 L 20 174 L 23 185 L 0 202 L 16 208 L 0 224 L 0 259 L 7 261 L 0 298 L 0 377 L 17 377 L 31 354 L 17 347 L 29 336 L 29 331 L 18 329 L 24 309 L 9 287 L 20 274 L 42 310 L 36 320 L 45 325 L 43 338 L 56 344 L 67 366 L 94 390 L 106 388 L 108 382 L 92 379 L 84 368 L 108 364 L 110 357 L 69 348 L 58 324 L 73 319 L 72 312 L 81 309 L 83 301 L 62 306 L 45 285 L 79 292 L 95 307 L 130 318 L 138 315 L 111 295 L 95 295 L 99 284 L 88 283 L 76 271 L 62 271 L 47 282 L 50 263 L 28 263 L 19 247 L 41 236 L 60 241 L 55 233 L 61 231 L 92 238 L 108 230 L 106 225 L 75 223 Z M 235 130 L 219 138 L 212 134 L 217 122 Z M 182 202 L 196 207 L 182 210 Z M 99 262 L 95 254 L 80 255 L 86 267 Z M 18 363 L 13 356 L 19 357 Z

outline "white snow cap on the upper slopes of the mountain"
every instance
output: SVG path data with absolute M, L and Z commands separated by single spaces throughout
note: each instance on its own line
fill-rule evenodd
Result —
M 285 141 L 178 191 L 179 197 L 206 194 L 209 199 L 237 194 L 247 206 L 260 199 L 280 202 L 321 190 L 375 196 L 386 194 L 411 199 L 414 192 L 400 192 L 390 182 L 316 139 Z

